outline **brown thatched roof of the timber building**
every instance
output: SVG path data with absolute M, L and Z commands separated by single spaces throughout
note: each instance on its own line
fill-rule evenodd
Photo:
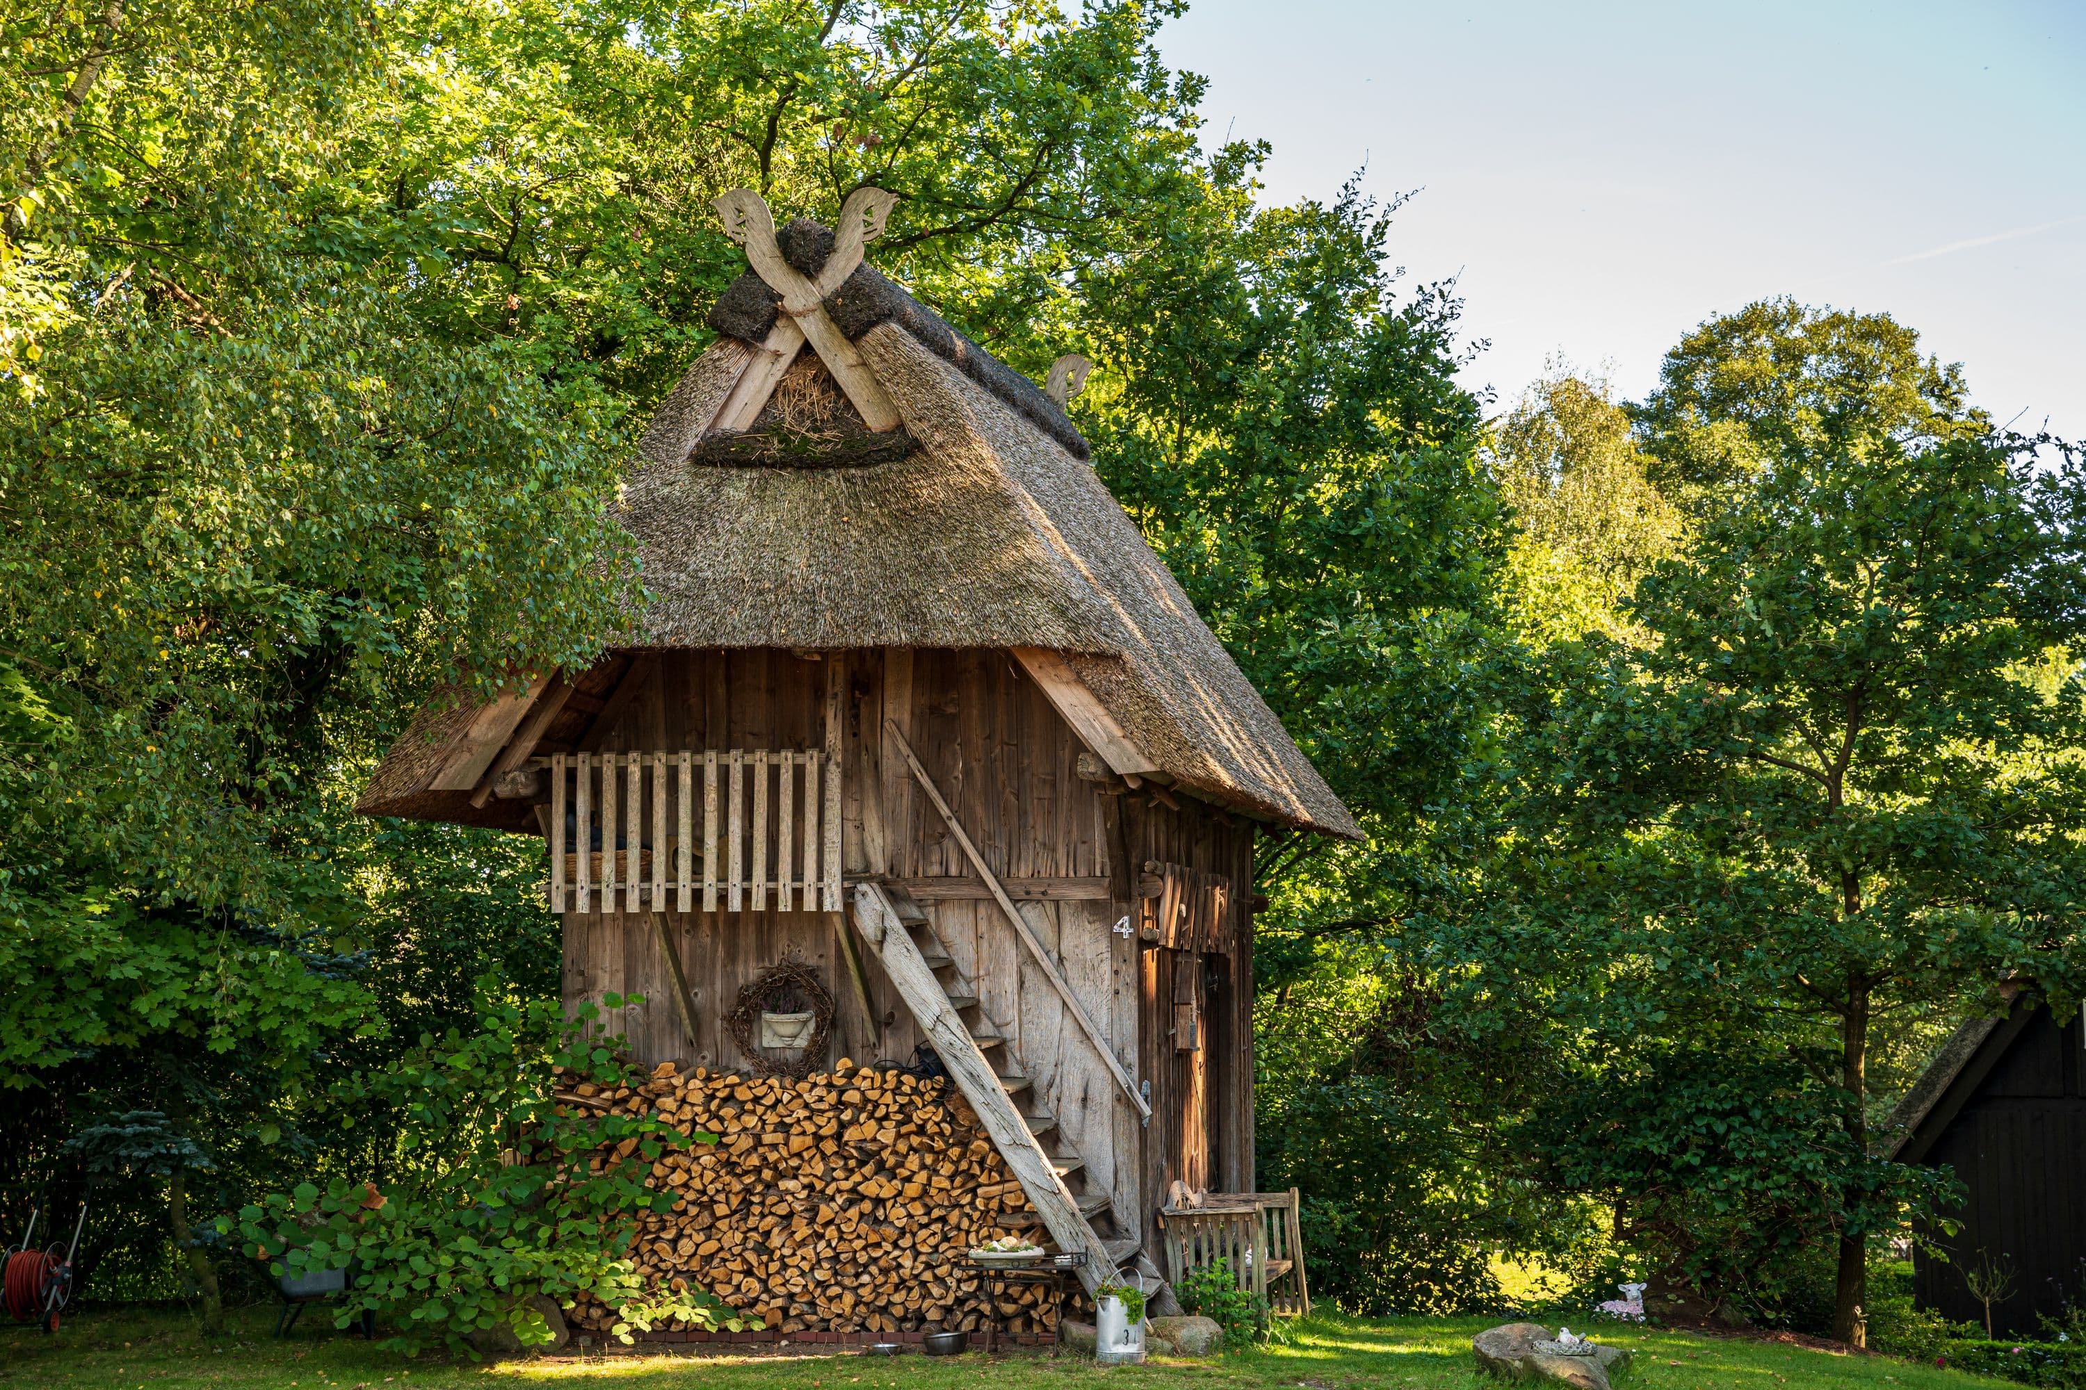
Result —
M 814 273 L 830 235 L 793 223 L 778 244 Z M 1049 648 L 1179 786 L 1360 836 L 1085 463 L 1058 402 L 868 267 L 826 308 L 909 442 L 862 463 L 836 427 L 824 467 L 772 467 L 749 438 L 761 425 L 724 450 L 705 442 L 776 319 L 774 292 L 741 279 L 713 315 L 724 336 L 659 406 L 624 488 L 620 521 L 655 594 L 636 644 Z M 822 381 L 805 377 L 807 400 Z M 832 415 L 849 415 L 845 400 Z

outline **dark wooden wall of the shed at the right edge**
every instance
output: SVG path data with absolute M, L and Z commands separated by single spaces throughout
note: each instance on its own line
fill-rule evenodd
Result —
M 1994 1042 L 2007 1034 L 1994 1034 Z M 1992 1046 L 1992 1044 L 1988 1044 Z M 1984 1061 L 1984 1059 L 1978 1059 Z M 1978 1075 L 1982 1071 L 1982 1075 Z M 1963 1271 L 1980 1252 L 2015 1271 L 2013 1296 L 1992 1309 L 1996 1336 L 2036 1332 L 2036 1315 L 2059 1315 L 2086 1294 L 2086 1040 L 2080 1017 L 2059 1021 L 2048 1007 L 2011 1036 L 1990 1069 L 1965 1069 L 1969 1094 L 1921 1163 L 1946 1163 L 1967 1188 L 1955 1236 L 1934 1232 L 1950 1252 L 1940 1263 L 1915 1252 L 1915 1294 L 1944 1317 L 1984 1323 Z M 1955 1102 L 1946 1096 L 1942 1104 Z

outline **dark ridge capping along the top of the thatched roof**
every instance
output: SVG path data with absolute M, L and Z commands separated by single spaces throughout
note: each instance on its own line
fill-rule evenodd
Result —
M 832 231 L 814 221 L 797 219 L 776 231 L 776 246 L 784 260 L 818 275 L 832 254 Z M 774 327 L 780 296 L 768 283 L 747 271 L 718 298 L 709 311 L 709 327 L 747 344 L 768 338 Z M 841 288 L 826 298 L 826 313 L 834 327 L 859 340 L 878 323 L 897 323 L 916 340 L 926 344 L 937 356 L 953 363 L 966 377 L 989 390 L 1003 404 L 1020 413 L 1049 438 L 1064 444 L 1074 458 L 1087 458 L 1087 438 L 1072 423 L 1064 408 L 1037 390 L 1037 383 L 1014 371 L 997 356 L 957 333 L 932 308 L 899 290 L 868 263 L 841 281 Z

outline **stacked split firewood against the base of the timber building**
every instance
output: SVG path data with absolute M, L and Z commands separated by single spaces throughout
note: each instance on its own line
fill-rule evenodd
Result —
M 655 1286 L 705 1288 L 782 1334 L 1047 1325 L 1037 1286 L 999 1288 L 964 1259 L 1035 1215 L 947 1082 L 849 1059 L 801 1082 L 661 1063 L 645 1086 L 557 1094 L 718 1136 L 653 1163 L 651 1186 L 678 1194 L 638 1219 L 634 1259 Z M 613 1321 L 599 1302 L 576 1315 Z

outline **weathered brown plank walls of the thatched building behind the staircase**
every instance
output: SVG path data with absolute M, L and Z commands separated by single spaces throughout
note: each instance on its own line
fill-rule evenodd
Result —
M 905 731 L 993 871 L 1014 882 L 1049 879 L 1049 900 L 1024 900 L 1020 911 L 1124 1065 L 1151 1082 L 1149 1127 L 1064 1017 L 1056 990 L 903 761 L 884 756 L 887 717 Z M 1035 1094 L 1058 1115 L 1093 1182 L 1114 1194 L 1124 1230 L 1154 1240 L 1154 1213 L 1174 1177 L 1252 1190 L 1252 932 L 1243 927 L 1252 823 L 1189 798 L 1168 809 L 1147 794 L 1108 796 L 1081 779 L 1078 740 L 999 650 L 830 652 L 824 661 L 782 650 L 642 652 L 578 748 L 830 748 L 828 740 L 841 744 L 847 773 L 847 871 L 884 873 L 920 890 L 937 934 L 976 982 L 985 1015 L 1014 1040 Z M 1133 913 L 1129 894 L 1145 859 L 1210 869 L 1235 884 L 1237 948 L 1214 959 L 1220 979 L 1197 1052 L 1177 1052 L 1168 1036 L 1172 963 L 1162 957 L 1172 952 L 1139 952 L 1135 934 L 1114 929 Z M 603 990 L 642 992 L 642 1007 L 605 1019 L 607 1032 L 628 1034 L 642 1061 L 743 1067 L 720 1019 L 738 988 L 789 948 L 814 965 L 839 1007 L 822 1063 L 843 1054 L 912 1059 L 918 1029 L 874 954 L 872 1038 L 839 954 L 836 915 L 668 919 L 695 994 L 693 1042 L 674 1013 L 647 915 L 565 917 L 567 1004 Z

